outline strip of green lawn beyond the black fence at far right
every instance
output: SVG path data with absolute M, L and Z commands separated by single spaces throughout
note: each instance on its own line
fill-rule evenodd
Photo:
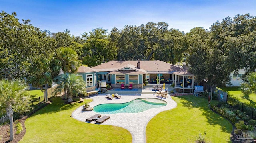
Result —
M 250 99 L 244 99 L 242 98 L 242 92 L 240 90 L 240 87 L 222 87 L 222 90 L 228 93 L 228 95 L 232 98 L 235 98 L 236 100 L 240 102 L 244 102 L 248 106 L 256 108 L 256 95 L 255 94 L 250 94 L 249 97 Z

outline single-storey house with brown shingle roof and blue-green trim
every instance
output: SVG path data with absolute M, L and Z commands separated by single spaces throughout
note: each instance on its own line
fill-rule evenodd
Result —
M 109 61 L 92 68 L 80 66 L 77 74 L 86 81 L 88 90 L 97 88 L 99 80 L 106 81 L 113 88 L 120 88 L 121 84 L 133 84 L 134 88 L 143 88 L 145 80 L 150 84 L 175 83 L 175 88 L 183 91 L 194 87 L 194 75 L 160 60 Z

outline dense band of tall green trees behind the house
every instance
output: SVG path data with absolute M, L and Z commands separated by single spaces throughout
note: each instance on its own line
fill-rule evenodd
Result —
M 230 72 L 256 69 L 256 17 L 236 15 L 213 23 L 210 30 L 195 27 L 188 33 L 168 29 L 166 22 L 125 25 L 122 29 L 96 28 L 82 36 L 41 31 L 16 13 L 0 13 L 1 78 L 28 79 L 40 62 L 57 55 L 60 47 L 77 53 L 78 61 L 93 67 L 111 60 L 185 61 L 197 80 L 226 84 Z M 39 69 L 39 68 L 37 68 Z

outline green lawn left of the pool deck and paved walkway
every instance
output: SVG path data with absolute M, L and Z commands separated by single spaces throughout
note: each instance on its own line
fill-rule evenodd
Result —
M 83 103 L 65 104 L 60 97 L 26 121 L 26 134 L 20 143 L 131 143 L 132 135 L 124 128 L 78 121 L 70 115 Z M 92 100 L 85 100 L 91 102 Z

